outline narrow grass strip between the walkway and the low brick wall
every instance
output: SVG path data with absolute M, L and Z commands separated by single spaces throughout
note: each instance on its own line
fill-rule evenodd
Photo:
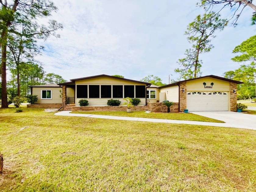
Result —
M 196 115 L 193 113 L 152 113 L 152 112 L 146 113 L 145 111 L 131 111 L 130 113 L 127 113 L 126 111 L 71 112 L 71 113 L 225 123 L 224 121 Z

